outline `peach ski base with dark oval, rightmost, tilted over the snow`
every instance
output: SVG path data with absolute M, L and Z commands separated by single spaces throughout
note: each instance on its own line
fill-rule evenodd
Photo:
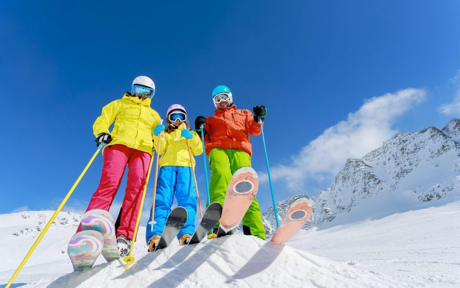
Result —
M 278 244 L 286 243 L 307 223 L 312 216 L 312 209 L 312 203 L 307 198 L 294 200 L 270 241 Z

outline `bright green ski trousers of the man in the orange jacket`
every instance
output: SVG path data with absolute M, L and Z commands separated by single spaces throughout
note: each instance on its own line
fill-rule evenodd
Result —
M 245 166 L 251 167 L 251 156 L 245 151 L 214 148 L 209 152 L 209 168 L 211 169 L 209 196 L 211 202 L 219 202 L 224 205 L 231 176 L 236 170 Z M 265 240 L 262 213 L 256 198 L 243 217 L 243 225 L 249 227 L 251 235 Z

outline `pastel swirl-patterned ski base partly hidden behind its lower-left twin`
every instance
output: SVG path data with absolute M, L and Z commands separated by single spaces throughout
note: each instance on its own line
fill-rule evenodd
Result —
M 116 245 L 115 225 L 112 215 L 101 209 L 93 209 L 83 215 L 82 229 L 96 230 L 104 237 L 104 246 L 102 256 L 107 262 L 120 258 L 118 247 Z

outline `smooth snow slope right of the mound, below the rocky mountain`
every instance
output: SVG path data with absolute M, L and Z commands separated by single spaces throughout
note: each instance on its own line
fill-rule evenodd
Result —
M 378 209 L 380 199 L 375 200 Z M 393 276 L 408 287 L 458 288 L 460 201 L 438 204 L 365 220 L 357 220 L 361 211 L 354 211 L 342 225 L 302 230 L 289 245 Z

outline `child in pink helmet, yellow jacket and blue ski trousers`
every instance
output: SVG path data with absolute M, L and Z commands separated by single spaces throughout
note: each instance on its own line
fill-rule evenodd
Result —
M 185 225 L 178 233 L 179 244 L 184 245 L 195 233 L 195 215 L 197 214 L 197 191 L 195 189 L 192 165 L 195 166 L 195 159 L 188 151 L 187 140 L 193 155 L 197 156 L 203 152 L 201 139 L 195 131 L 190 131 L 187 121 L 187 112 L 179 104 L 171 105 L 166 112 L 167 127 L 159 124 L 155 127 L 153 134 L 158 136 L 160 132 L 160 172 L 155 199 L 155 224 L 153 231 L 147 229 L 146 240 L 148 250 L 154 251 L 160 240 L 164 229 L 166 218 L 171 212 L 174 195 L 178 206 L 187 210 L 188 216 Z M 182 123 L 186 123 L 186 128 Z M 157 139 L 157 137 L 155 138 Z M 150 211 L 150 222 L 151 213 Z

